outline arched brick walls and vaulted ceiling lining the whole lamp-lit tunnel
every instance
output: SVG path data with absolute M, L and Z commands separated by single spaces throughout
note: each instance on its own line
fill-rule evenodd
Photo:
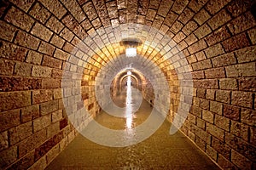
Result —
M 83 131 L 128 83 L 169 135 L 256 169 L 254 0 L 1 0 L 0 18 L 0 169 L 44 169 L 79 134 L 149 138 L 154 117 L 130 140 Z

